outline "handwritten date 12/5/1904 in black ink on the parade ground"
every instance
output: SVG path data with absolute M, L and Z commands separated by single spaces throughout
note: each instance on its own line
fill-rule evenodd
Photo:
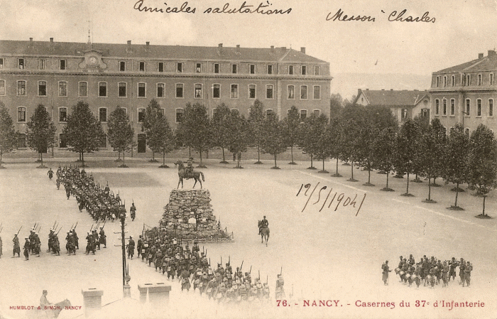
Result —
M 310 199 L 312 198 L 312 195 L 314 194 L 318 185 L 320 185 L 319 182 L 315 185 L 315 187 L 312 189 L 312 191 L 309 195 L 307 195 L 307 192 L 310 190 L 311 184 L 307 183 L 305 185 L 304 184 L 300 185 L 300 189 L 298 190 L 297 197 L 298 197 L 298 195 L 300 195 L 300 192 L 302 192 L 303 193 L 302 195 L 304 195 L 305 197 L 308 196 L 307 202 L 305 202 L 305 205 L 302 208 L 302 212 L 304 212 L 305 208 L 307 207 L 307 204 L 309 204 Z M 305 191 L 303 191 L 302 188 L 305 188 Z M 312 205 L 316 205 L 318 202 L 320 202 L 321 198 L 324 198 L 324 194 L 326 194 L 326 193 L 323 193 L 323 195 L 321 196 L 321 192 L 323 190 L 326 190 L 327 188 L 328 187 L 326 185 L 323 186 L 322 188 L 320 188 L 320 190 L 317 193 L 317 200 L 315 202 L 312 202 Z M 333 191 L 333 188 L 329 190 L 329 193 L 326 195 L 326 198 L 324 198 L 324 202 L 322 203 L 322 206 L 320 208 L 320 212 L 323 210 L 324 205 L 327 204 L 329 198 L 331 198 L 331 200 L 329 201 L 328 208 L 331 207 L 331 209 L 334 212 L 336 212 L 339 209 L 339 207 L 349 206 L 349 207 L 356 208 L 357 194 L 355 194 L 355 196 L 348 196 L 348 195 L 345 195 L 345 193 L 339 194 L 338 192 L 335 192 L 334 195 L 332 195 L 332 191 Z M 359 204 L 359 208 L 357 208 L 356 216 L 359 214 L 359 211 L 361 210 L 362 204 L 364 203 L 365 199 L 366 199 L 366 193 L 364 193 L 364 197 L 361 200 L 361 204 Z M 333 207 L 332 207 L 332 205 L 333 205 Z

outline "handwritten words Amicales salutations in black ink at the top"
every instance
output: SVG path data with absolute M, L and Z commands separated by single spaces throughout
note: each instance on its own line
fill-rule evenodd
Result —
M 190 6 L 188 1 L 183 2 L 180 5 L 164 2 L 163 6 L 146 6 L 145 0 L 138 0 L 133 6 L 133 9 L 140 12 L 148 13 L 196 13 L 197 8 L 195 6 Z M 257 14 L 289 14 L 292 8 L 287 9 L 277 9 L 273 7 L 273 4 L 269 1 L 261 2 L 258 5 L 247 4 L 244 1 L 240 6 L 230 5 L 228 2 L 223 6 L 219 7 L 209 7 L 201 9 L 202 13 L 257 13 Z

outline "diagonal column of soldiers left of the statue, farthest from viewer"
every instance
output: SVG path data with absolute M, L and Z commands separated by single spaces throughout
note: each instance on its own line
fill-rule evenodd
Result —
M 56 175 L 58 188 L 60 183 L 64 185 L 67 200 L 70 195 L 74 195 L 80 212 L 84 208 L 95 221 L 114 222 L 119 217 L 119 212 L 124 209 L 119 194 L 114 195 L 109 185 L 102 187 L 94 183 L 93 175 L 87 175 L 84 168 L 80 171 L 78 167 L 59 167 Z M 136 208 L 134 210 L 136 211 Z

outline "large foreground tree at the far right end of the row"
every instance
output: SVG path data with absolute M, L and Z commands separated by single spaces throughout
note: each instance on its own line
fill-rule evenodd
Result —
M 485 215 L 486 195 L 496 188 L 497 178 L 497 142 L 493 132 L 480 124 L 469 139 L 469 185 L 474 186 L 477 195 L 484 198 L 483 212 Z

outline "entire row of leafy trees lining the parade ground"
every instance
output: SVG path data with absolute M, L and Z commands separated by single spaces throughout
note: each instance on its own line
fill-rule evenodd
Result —
M 8 109 L 0 106 L 0 161 L 1 156 L 16 147 L 16 131 Z M 31 120 L 27 124 L 26 137 L 28 146 L 40 153 L 43 166 L 43 152 L 55 145 L 55 126 L 43 105 L 38 105 Z M 148 147 L 153 154 L 162 153 L 163 165 L 165 155 L 180 146 L 188 146 L 200 154 L 210 148 L 222 148 L 222 162 L 227 163 L 225 151 L 239 154 L 236 167 L 241 168 L 241 153 L 248 147 L 260 153 L 270 153 L 274 157 L 274 166 L 278 168 L 278 154 L 290 148 L 293 162 L 293 149 L 299 147 L 313 161 L 336 159 L 336 171 L 332 175 L 340 177 L 339 161 L 350 163 L 351 177 L 354 179 L 354 166 L 360 166 L 368 171 L 368 182 L 371 184 L 371 171 L 386 174 L 385 191 L 388 187 L 390 173 L 395 177 L 406 178 L 406 191 L 402 195 L 413 196 L 409 193 L 410 175 L 415 175 L 414 182 L 420 183 L 420 177 L 428 180 L 428 194 L 425 202 L 435 202 L 431 197 L 431 188 L 438 186 L 437 178 L 443 178 L 445 183 L 455 184 L 454 205 L 448 207 L 462 210 L 457 203 L 461 184 L 468 184 L 476 195 L 483 197 L 483 213 L 485 216 L 486 195 L 496 187 L 497 183 L 497 142 L 493 132 L 484 125 L 478 126 L 471 136 L 464 132 L 461 124 L 447 131 L 438 119 L 428 123 L 426 119 L 416 117 L 403 122 L 398 127 L 396 119 L 386 107 L 361 107 L 346 104 L 332 112 L 332 118 L 312 114 L 301 120 L 298 109 L 292 107 L 284 119 L 278 119 L 276 114 L 265 114 L 263 103 L 256 100 L 251 106 L 249 117 L 235 112 L 224 104 L 214 110 L 209 118 L 206 107 L 202 104 L 187 104 L 178 129 L 171 129 L 168 119 L 161 112 L 160 105 L 152 99 L 146 108 L 146 116 L 141 125 L 146 134 Z M 89 105 L 78 102 L 72 107 L 72 113 L 67 117 L 67 125 L 62 130 L 71 151 L 80 153 L 84 166 L 84 153 L 99 150 L 102 139 L 106 135 L 109 144 L 122 154 L 130 151 L 136 145 L 133 140 L 134 131 L 131 127 L 125 109 L 116 107 L 109 115 L 107 134 L 102 129 L 97 117 L 92 114 Z M 155 155 L 153 155 L 155 156 Z M 124 164 L 123 164 L 124 166 Z

